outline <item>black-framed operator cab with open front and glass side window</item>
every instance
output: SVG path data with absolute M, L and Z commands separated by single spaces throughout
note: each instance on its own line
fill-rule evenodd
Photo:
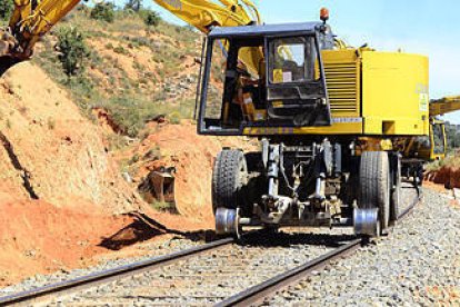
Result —
M 213 29 L 200 76 L 199 133 L 330 126 L 320 51 L 332 48 L 319 22 Z

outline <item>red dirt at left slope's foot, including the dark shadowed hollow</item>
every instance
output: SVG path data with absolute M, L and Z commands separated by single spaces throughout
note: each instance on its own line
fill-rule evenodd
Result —
M 92 204 L 74 205 L 57 208 L 42 200 L 20 200 L 0 192 L 0 287 L 36 274 L 88 267 L 102 257 L 146 255 L 148 250 L 136 244 L 166 239 L 168 234 L 206 235 L 200 224 L 179 216 L 108 216 Z

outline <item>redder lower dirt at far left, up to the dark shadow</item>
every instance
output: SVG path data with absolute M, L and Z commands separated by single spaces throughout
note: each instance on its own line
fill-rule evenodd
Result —
M 99 246 L 132 222 L 131 217 L 56 208 L 41 200 L 18 200 L 0 195 L 0 286 L 38 273 L 90 265 L 91 257 L 109 250 Z

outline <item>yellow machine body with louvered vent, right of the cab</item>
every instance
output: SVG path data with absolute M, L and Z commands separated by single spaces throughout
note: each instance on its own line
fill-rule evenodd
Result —
M 340 49 L 322 51 L 322 60 L 331 126 L 246 128 L 244 135 L 429 135 L 427 57 Z

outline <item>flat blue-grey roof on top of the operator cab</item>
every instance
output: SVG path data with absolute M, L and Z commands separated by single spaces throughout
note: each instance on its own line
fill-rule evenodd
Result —
M 321 27 L 321 22 L 281 23 L 243 27 L 216 27 L 209 33 L 213 37 L 254 37 L 254 36 L 276 36 L 286 33 L 312 33 Z

